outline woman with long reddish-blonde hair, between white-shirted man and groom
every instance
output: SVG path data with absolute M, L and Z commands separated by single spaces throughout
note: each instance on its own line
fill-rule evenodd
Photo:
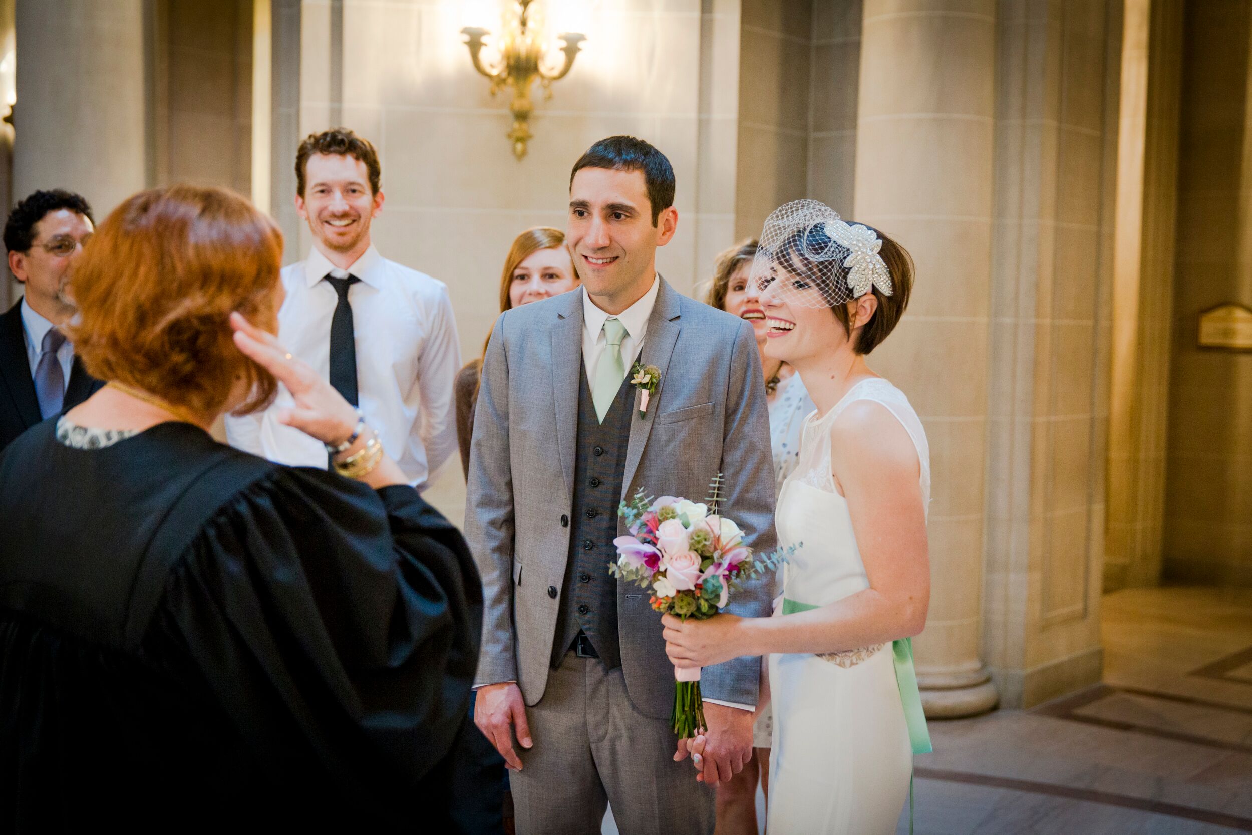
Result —
M 517 235 L 505 259 L 500 277 L 500 312 L 541 302 L 578 287 L 565 233 L 552 227 L 535 227 Z M 487 334 L 487 341 L 491 334 Z M 486 353 L 487 342 L 482 344 Z M 457 404 L 457 437 L 461 442 L 461 468 L 470 474 L 470 439 L 473 437 L 473 409 L 478 403 L 478 376 L 482 357 L 471 361 L 457 374 L 453 394 Z

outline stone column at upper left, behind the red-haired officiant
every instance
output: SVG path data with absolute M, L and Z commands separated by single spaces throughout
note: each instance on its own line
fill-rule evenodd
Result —
M 18 0 L 14 198 L 83 194 L 103 219 L 149 182 L 144 0 Z

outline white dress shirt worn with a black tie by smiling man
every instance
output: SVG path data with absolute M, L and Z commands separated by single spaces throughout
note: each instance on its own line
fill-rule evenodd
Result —
M 448 288 L 384 259 L 373 247 L 346 270 L 316 248 L 307 260 L 283 269 L 287 298 L 278 313 L 278 339 L 323 379 L 331 378 L 331 318 L 339 300 L 322 280 L 328 274 L 361 279 L 348 290 L 361 411 L 408 482 L 422 489 L 457 448 L 452 382 L 461 347 Z M 290 392 L 279 386 L 265 412 L 227 418 L 227 439 L 270 461 L 324 469 L 322 442 L 275 419 L 278 409 L 293 404 Z

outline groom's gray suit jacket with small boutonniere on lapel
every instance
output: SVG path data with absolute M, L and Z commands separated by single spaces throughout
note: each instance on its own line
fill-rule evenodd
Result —
M 561 525 L 572 505 L 582 294 L 515 308 L 496 322 L 482 367 L 470 453 L 466 538 L 482 575 L 483 633 L 477 685 L 516 680 L 527 705 L 543 696 L 570 552 Z M 724 473 L 724 513 L 746 545 L 774 548 L 774 469 L 765 383 L 749 323 L 689 299 L 661 280 L 640 356 L 661 369 L 646 417 L 634 411 L 622 497 L 702 501 Z M 639 393 L 636 392 L 636 407 Z M 618 532 L 625 527 L 618 520 Z M 608 571 L 607 562 L 605 571 Z M 556 595 L 551 593 L 556 590 Z M 622 672 L 635 706 L 667 717 L 674 669 L 649 590 L 618 581 Z M 769 613 L 757 578 L 729 610 Z M 710 699 L 756 704 L 757 658 L 704 671 Z

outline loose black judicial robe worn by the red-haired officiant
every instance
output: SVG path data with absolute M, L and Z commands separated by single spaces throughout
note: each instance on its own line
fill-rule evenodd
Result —
M 409 487 L 45 421 L 0 454 L 0 831 L 457 831 L 481 622 Z

